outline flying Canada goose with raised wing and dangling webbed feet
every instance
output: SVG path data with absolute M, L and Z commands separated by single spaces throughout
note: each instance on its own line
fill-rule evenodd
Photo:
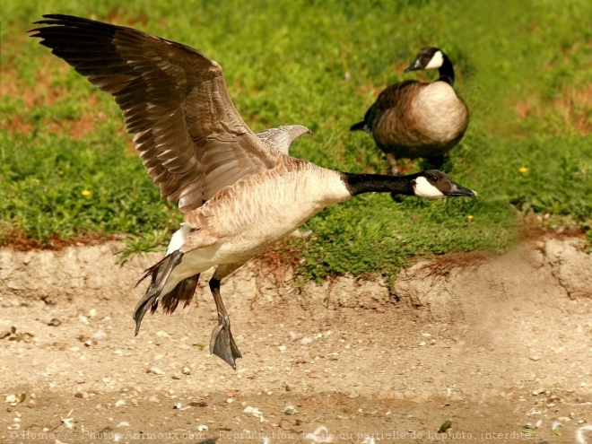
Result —
M 128 133 L 161 196 L 178 201 L 185 222 L 135 307 L 137 335 L 161 301 L 185 306 L 199 274 L 216 267 L 209 286 L 218 312 L 210 352 L 236 369 L 240 352 L 220 295 L 221 280 L 327 205 L 370 191 L 423 197 L 475 196 L 437 170 L 405 177 L 326 170 L 288 148 L 304 126 L 255 135 L 226 90 L 222 68 L 193 48 L 140 30 L 88 19 L 44 15 L 32 37 L 91 83 L 115 97 Z M 143 279 L 144 279 L 143 278 Z M 141 280 L 142 281 L 142 280 Z

